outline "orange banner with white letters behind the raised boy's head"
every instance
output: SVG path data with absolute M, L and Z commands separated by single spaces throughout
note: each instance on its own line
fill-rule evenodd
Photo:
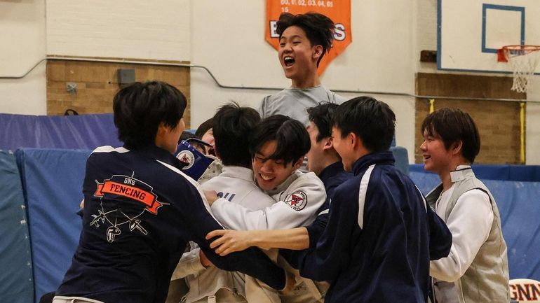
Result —
M 326 15 L 335 23 L 334 43 L 330 52 L 323 57 L 318 67 L 318 74 L 351 44 L 351 0 L 266 0 L 265 39 L 276 50 L 279 48 L 279 36 L 276 22 L 281 13 L 293 15 L 316 12 Z

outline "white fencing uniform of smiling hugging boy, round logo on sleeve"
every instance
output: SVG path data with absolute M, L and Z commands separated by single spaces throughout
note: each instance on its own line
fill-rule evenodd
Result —
M 227 199 L 217 199 L 211 206 L 212 213 L 226 228 L 233 230 L 281 230 L 309 225 L 315 220 L 318 209 L 326 199 L 323 181 L 313 172 L 295 171 L 278 188 L 266 192 L 276 200 L 275 204 L 253 211 Z M 272 259 L 277 251 L 269 251 Z M 289 293 L 278 293 L 264 283 L 246 276 L 248 302 L 257 303 L 313 303 L 322 302 L 328 283 L 314 283 L 299 276 L 299 272 L 284 260 L 278 264 L 295 275 L 297 284 Z

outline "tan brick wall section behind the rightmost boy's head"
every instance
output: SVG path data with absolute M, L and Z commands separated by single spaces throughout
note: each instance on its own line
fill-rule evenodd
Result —
M 512 92 L 512 78 L 499 76 L 418 73 L 417 94 L 431 96 L 526 99 Z M 520 104 L 513 101 L 471 101 L 436 99 L 435 109 L 459 108 L 471 115 L 480 132 L 479 164 L 518 164 L 520 162 Z M 429 113 L 426 99 L 416 101 L 415 162 L 421 163 L 419 146 L 421 122 Z

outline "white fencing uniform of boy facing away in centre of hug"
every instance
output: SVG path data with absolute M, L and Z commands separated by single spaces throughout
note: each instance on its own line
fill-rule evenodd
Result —
M 215 190 L 218 197 L 250 210 L 265 209 L 276 203 L 255 185 L 253 171 L 245 167 L 225 166 L 221 174 L 203 183 L 201 188 Z M 245 302 L 245 275 L 238 272 L 226 272 L 217 267 L 205 269 L 201 265 L 199 251 L 196 244 L 191 243 L 191 251 L 182 255 L 173 275 L 175 279 L 186 276 L 189 292 L 185 302 L 196 302 L 215 295 L 220 289 L 229 290 L 233 294 L 229 297 L 237 296 L 236 302 Z

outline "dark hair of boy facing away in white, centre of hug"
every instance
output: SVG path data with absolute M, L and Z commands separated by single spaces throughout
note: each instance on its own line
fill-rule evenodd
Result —
M 212 120 L 215 150 L 224 165 L 251 168 L 248 136 L 261 121 L 255 109 L 235 102 L 221 106 Z

